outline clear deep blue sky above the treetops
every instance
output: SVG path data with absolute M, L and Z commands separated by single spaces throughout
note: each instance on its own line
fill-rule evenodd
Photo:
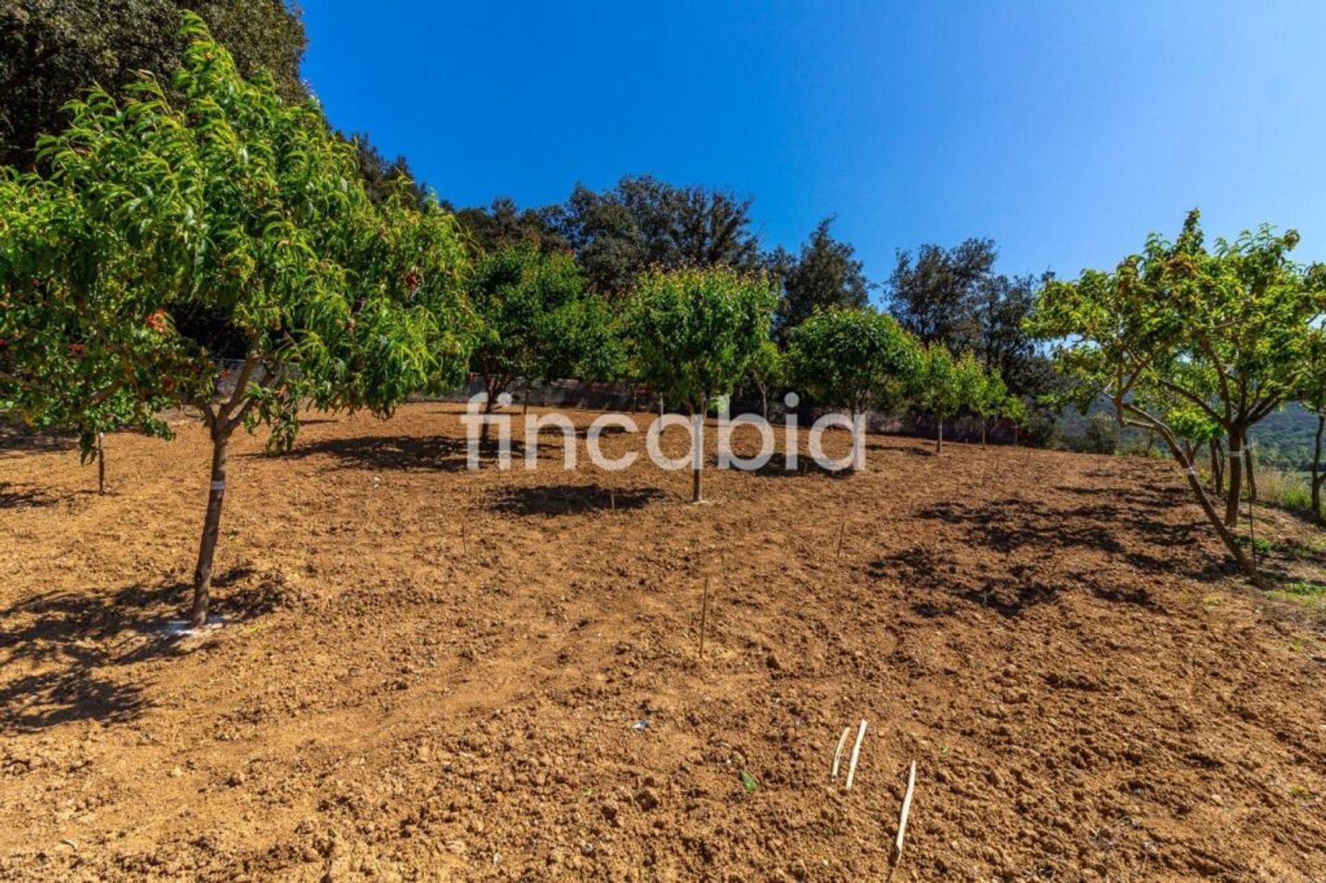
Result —
M 1326 257 L 1322 3 L 304 4 L 306 78 L 456 204 L 629 172 L 825 215 L 871 278 L 991 236 L 1000 269 L 1113 265 L 1200 207 Z

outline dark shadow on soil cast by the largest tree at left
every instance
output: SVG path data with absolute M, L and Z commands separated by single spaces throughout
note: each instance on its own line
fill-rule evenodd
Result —
M 232 569 L 213 579 L 224 587 L 248 575 Z M 138 679 L 114 676 L 121 666 L 170 656 L 182 636 L 166 623 L 182 617 L 191 586 L 133 585 L 113 595 L 48 591 L 0 610 L 0 727 L 38 731 L 78 720 L 126 723 L 150 707 Z M 219 599 L 224 614 L 263 610 L 260 598 Z

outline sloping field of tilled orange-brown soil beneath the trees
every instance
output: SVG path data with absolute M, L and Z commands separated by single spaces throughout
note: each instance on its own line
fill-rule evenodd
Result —
M 1326 879 L 1318 626 L 1171 465 L 871 436 L 695 506 L 468 472 L 457 412 L 240 439 L 183 640 L 203 432 L 111 438 L 105 497 L 0 456 L 0 878 L 882 880 L 915 760 L 898 880 Z

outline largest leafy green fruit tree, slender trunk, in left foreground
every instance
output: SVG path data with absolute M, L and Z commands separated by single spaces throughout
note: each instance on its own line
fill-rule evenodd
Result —
M 184 33 L 178 101 L 151 78 L 123 105 L 94 90 L 42 141 L 49 179 L 5 184 L 19 207 L 0 200 L 4 213 L 20 216 L 0 228 L 0 273 L 16 306 L 8 410 L 57 416 L 85 443 L 115 396 L 163 435 L 163 403 L 202 415 L 212 457 L 190 613 L 199 627 L 233 432 L 267 424 L 271 444 L 289 447 L 301 404 L 387 415 L 459 379 L 467 312 L 450 215 L 374 206 L 355 148 L 316 105 L 244 81 L 199 19 Z M 52 373 L 68 379 L 50 386 Z

